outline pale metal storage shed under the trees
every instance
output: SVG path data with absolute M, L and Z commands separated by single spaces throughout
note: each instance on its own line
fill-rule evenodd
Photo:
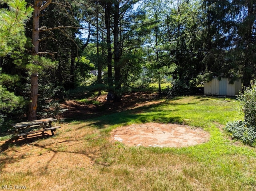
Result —
M 204 95 L 236 96 L 242 91 L 241 79 L 229 83 L 228 78 L 213 78 L 212 81 L 204 83 Z

